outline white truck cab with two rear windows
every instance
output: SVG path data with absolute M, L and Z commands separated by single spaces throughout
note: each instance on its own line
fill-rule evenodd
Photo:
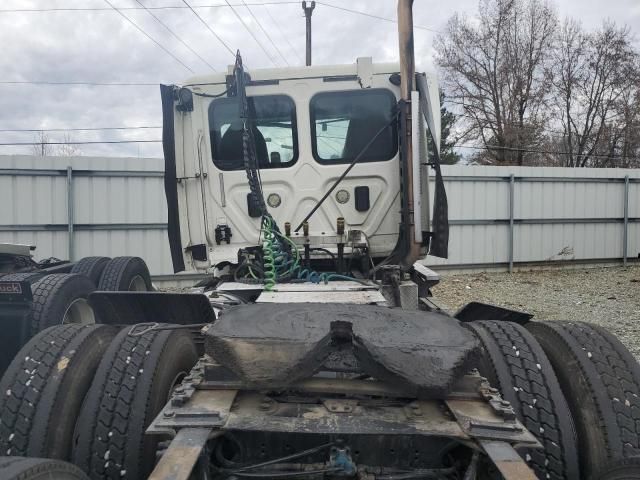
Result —
M 371 58 L 351 65 L 248 70 L 246 95 L 268 212 L 280 228 L 291 225 L 292 241 L 313 247 L 312 256 L 326 257 L 343 243 L 345 257 L 366 245 L 370 257 L 381 259 L 398 243 L 400 135 L 393 122 L 400 100 L 398 72 L 399 65 L 373 63 Z M 229 67 L 226 75 L 197 76 L 171 87 L 174 139 L 165 138 L 165 157 L 175 155 L 173 208 L 178 221 L 172 253 L 175 266 L 179 237 L 183 269 L 206 271 L 235 261 L 238 249 L 260 244 L 261 214 L 252 208 L 232 74 Z M 428 116 L 439 132 L 436 76 L 428 73 L 424 78 Z M 417 106 L 418 92 L 414 94 Z M 168 113 L 165 108 L 165 123 Z M 414 134 L 420 234 L 429 230 L 426 127 L 418 122 L 422 118 L 414 116 L 421 126 Z M 167 152 L 172 145 L 174 152 Z M 304 228 L 296 228 L 359 153 L 352 170 Z M 172 166 L 167 167 L 170 173 Z M 339 222 L 344 233 L 339 233 Z M 427 242 L 421 243 L 426 254 Z

